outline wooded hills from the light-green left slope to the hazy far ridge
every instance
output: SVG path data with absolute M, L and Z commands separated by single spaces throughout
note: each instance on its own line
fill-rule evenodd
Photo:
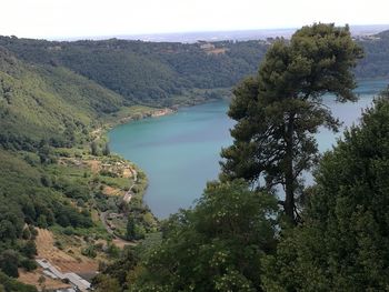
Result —
M 7 143 L 22 135 L 64 145 L 122 105 L 169 107 L 198 97 L 220 98 L 226 91 L 219 89 L 257 71 L 271 41 L 183 44 L 0 37 L 0 125 L 7 129 L 1 134 Z M 389 77 L 389 31 L 358 41 L 366 58 L 357 77 Z

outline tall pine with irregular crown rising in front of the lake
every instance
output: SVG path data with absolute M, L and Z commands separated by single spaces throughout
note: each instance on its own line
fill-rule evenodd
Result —
M 258 75 L 233 91 L 229 115 L 237 124 L 233 144 L 221 153 L 221 178 L 243 178 L 273 191 L 282 185 L 285 212 L 295 221 L 301 174 L 318 160 L 313 134 L 321 125 L 339 125 L 322 97 L 356 100 L 351 69 L 361 57 L 349 28 L 333 24 L 303 27 L 290 42 L 273 43 Z

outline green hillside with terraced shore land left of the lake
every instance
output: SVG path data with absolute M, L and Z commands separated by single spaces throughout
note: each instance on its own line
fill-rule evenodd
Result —
M 102 133 L 120 110 L 127 118 L 152 111 L 124 104 L 123 97 L 64 67 L 27 63 L 0 48 L 0 290 L 36 291 L 8 278 L 37 268 L 36 228 L 92 236 L 92 242 L 57 241 L 61 249 L 78 242 L 76 263 L 80 256 L 118 255 L 112 243 L 108 250 L 93 243 L 112 240 L 99 212 L 136 217 L 137 238 L 156 228 L 141 200 L 144 175 L 139 171 L 137 181 L 123 175 L 133 167 L 110 154 Z M 138 193 L 121 210 L 121 194 L 131 184 Z M 110 198 L 109 191 L 120 195 Z

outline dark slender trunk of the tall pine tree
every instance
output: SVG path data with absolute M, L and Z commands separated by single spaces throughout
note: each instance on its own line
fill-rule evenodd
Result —
M 293 132 L 295 113 L 290 113 L 287 124 L 286 169 L 285 169 L 285 204 L 283 210 L 291 222 L 295 220 L 295 172 L 293 172 Z

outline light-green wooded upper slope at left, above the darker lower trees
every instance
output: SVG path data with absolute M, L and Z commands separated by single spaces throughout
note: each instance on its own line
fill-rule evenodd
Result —
M 0 49 L 1 143 L 19 137 L 69 145 L 122 104 L 117 93 L 66 68 L 29 66 Z

